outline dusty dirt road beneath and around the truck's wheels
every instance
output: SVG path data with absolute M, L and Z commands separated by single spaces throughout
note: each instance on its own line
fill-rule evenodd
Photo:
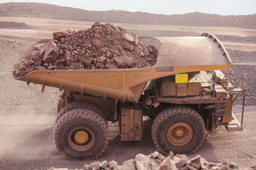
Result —
M 45 109 L 47 108 L 47 109 Z M 243 132 L 227 132 L 218 129 L 215 136 L 207 136 L 204 144 L 194 155 L 202 155 L 211 162 L 228 159 L 243 167 L 256 165 L 255 137 L 255 106 L 246 108 Z M 3 110 L 4 109 L 4 110 Z M 70 161 L 56 150 L 53 143 L 52 131 L 56 116 L 54 106 L 8 106 L 1 107 L 0 119 L 4 120 L 0 127 L 1 152 L 0 169 L 45 169 L 51 166 L 81 168 L 92 161 Z M 241 107 L 236 107 L 239 112 Z M 4 123 L 5 122 L 5 123 Z M 149 154 L 155 147 L 150 137 L 152 120 L 146 117 L 143 141 L 121 142 L 116 131 L 116 124 L 109 124 L 111 136 L 106 152 L 98 159 L 116 160 L 122 164 L 124 160 L 132 159 L 137 153 Z

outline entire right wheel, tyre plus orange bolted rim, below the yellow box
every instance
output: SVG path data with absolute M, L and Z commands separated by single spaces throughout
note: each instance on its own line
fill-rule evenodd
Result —
M 152 125 L 152 139 L 157 150 L 168 155 L 191 154 L 204 142 L 206 130 L 201 115 L 187 106 L 176 106 L 161 111 Z

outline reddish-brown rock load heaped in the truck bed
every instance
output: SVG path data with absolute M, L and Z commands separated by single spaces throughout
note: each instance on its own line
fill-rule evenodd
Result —
M 16 64 L 13 75 L 34 70 L 118 69 L 153 66 L 157 49 L 138 36 L 112 24 L 95 22 L 86 30 L 53 32 L 47 43 L 32 46 L 26 59 Z

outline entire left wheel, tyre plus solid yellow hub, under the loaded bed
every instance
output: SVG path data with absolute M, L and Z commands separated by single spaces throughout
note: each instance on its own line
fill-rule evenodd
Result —
M 95 111 L 70 110 L 56 123 L 54 141 L 67 159 L 96 159 L 108 146 L 108 124 Z

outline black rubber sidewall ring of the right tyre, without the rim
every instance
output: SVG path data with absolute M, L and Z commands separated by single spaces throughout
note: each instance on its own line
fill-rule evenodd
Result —
M 167 139 L 166 134 L 168 128 L 177 122 L 185 122 L 186 124 L 189 124 L 193 130 L 193 136 L 191 140 L 186 143 L 186 145 L 175 146 L 169 143 Z M 159 146 L 164 150 L 164 152 L 166 152 L 166 154 L 170 151 L 173 153 L 189 153 L 200 145 L 202 138 L 204 138 L 203 134 L 204 131 L 202 125 L 196 117 L 188 113 L 175 113 L 170 115 L 170 117 L 165 118 L 159 125 L 159 128 L 157 129 L 157 141 Z

